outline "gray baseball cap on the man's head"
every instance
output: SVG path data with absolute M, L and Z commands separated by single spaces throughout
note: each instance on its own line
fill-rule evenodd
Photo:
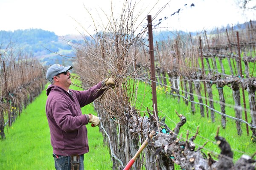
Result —
M 53 77 L 56 76 L 57 74 L 63 73 L 72 68 L 73 66 L 64 67 L 63 65 L 60 65 L 60 64 L 54 64 L 47 69 L 46 79 L 48 79 L 49 81 L 52 81 Z

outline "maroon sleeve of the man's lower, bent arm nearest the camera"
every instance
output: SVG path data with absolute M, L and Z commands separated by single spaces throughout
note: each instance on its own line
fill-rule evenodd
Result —
M 62 130 L 70 132 L 88 124 L 86 115 L 72 116 L 69 107 L 67 101 L 61 99 L 52 103 L 53 117 Z

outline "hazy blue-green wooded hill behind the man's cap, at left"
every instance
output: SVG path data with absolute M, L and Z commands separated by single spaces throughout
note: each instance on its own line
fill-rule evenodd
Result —
M 65 57 L 74 57 L 74 49 L 67 43 L 81 42 L 82 37 L 69 35 L 58 37 L 54 32 L 42 29 L 0 31 L 0 51 L 36 57 L 45 65 L 62 63 Z M 65 63 L 67 63 L 65 61 Z

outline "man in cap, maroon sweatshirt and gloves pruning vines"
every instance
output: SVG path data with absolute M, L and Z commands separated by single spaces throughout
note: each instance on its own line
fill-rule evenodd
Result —
M 87 128 L 99 126 L 99 118 L 92 114 L 82 115 L 81 107 L 101 96 L 105 85 L 114 86 L 113 79 L 105 79 L 86 91 L 69 89 L 73 66 L 54 64 L 48 68 L 46 78 L 51 82 L 47 88 L 46 115 L 51 134 L 56 170 L 79 167 L 84 170 L 84 153 L 89 152 Z

